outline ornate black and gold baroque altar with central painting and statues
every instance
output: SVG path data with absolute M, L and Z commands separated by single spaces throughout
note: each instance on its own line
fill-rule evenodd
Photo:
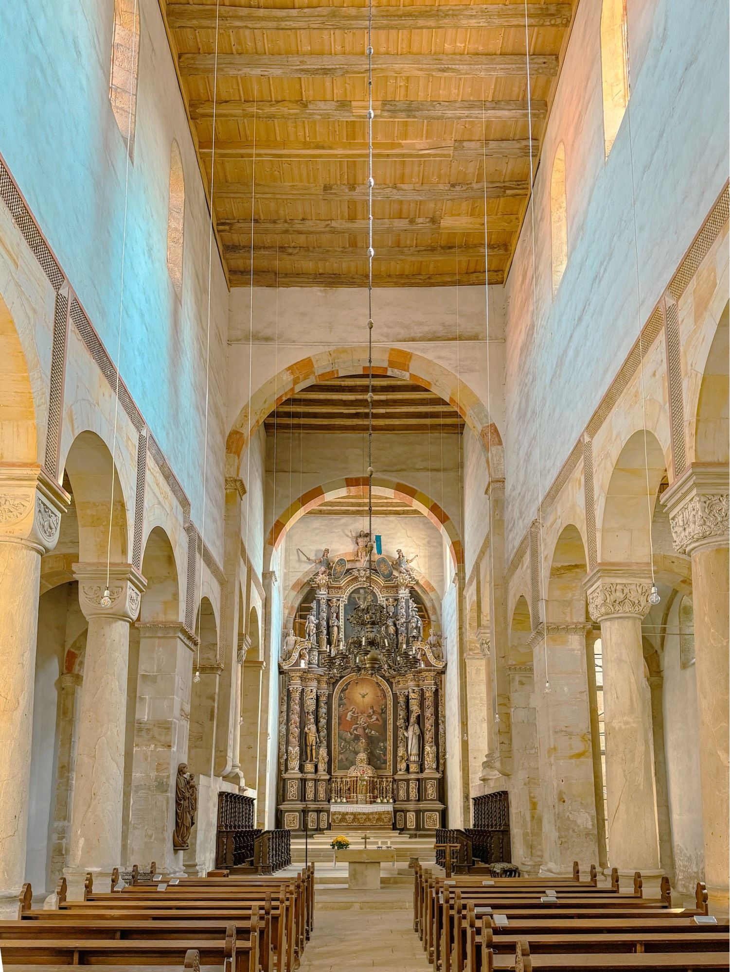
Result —
M 304 637 L 290 628 L 282 639 L 277 792 L 289 830 L 442 825 L 442 642 L 409 561 L 399 550 L 369 568 L 368 539 L 354 562 L 332 564 L 325 548 Z M 365 635 L 358 652 L 358 622 L 374 617 L 383 653 L 368 653 Z

